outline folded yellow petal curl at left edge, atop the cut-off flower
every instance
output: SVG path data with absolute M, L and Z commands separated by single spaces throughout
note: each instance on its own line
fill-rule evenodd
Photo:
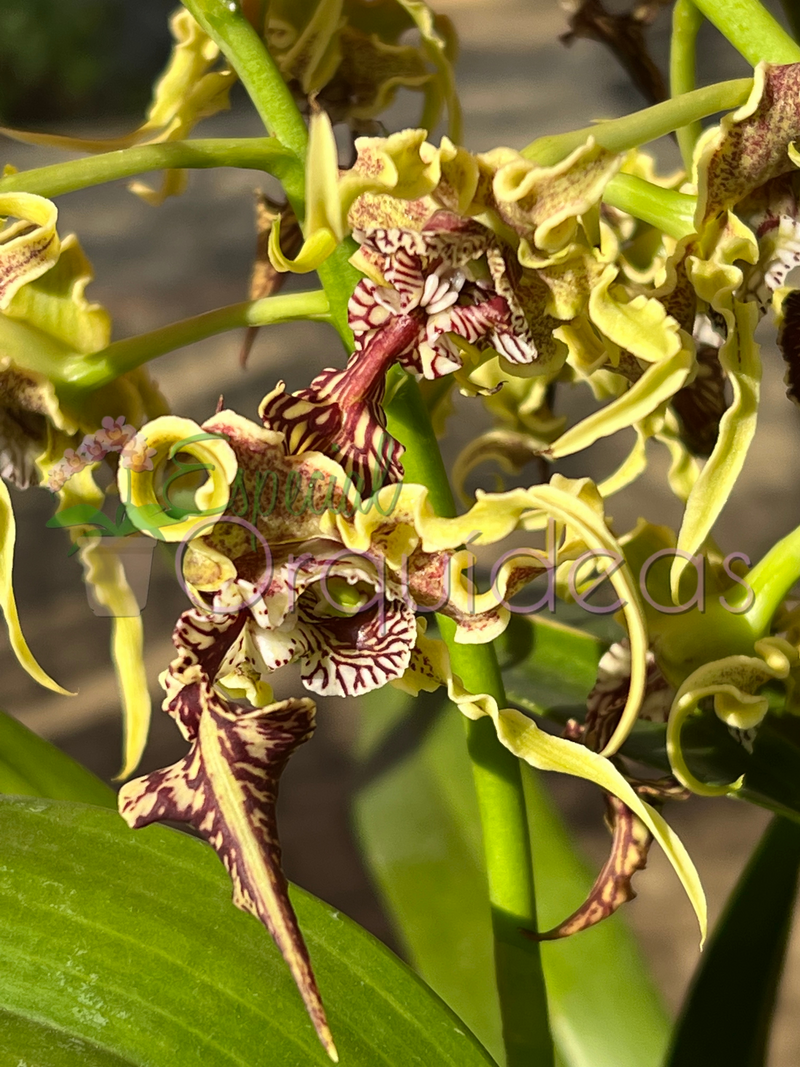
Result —
M 33 193 L 0 195 L 0 216 L 20 221 L 0 230 L 0 310 L 26 283 L 50 270 L 59 258 L 55 205 Z

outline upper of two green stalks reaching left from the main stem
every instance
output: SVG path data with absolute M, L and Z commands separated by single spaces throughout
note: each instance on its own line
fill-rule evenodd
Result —
M 299 175 L 300 189 L 303 188 L 302 168 L 294 155 L 275 138 L 220 138 L 145 144 L 37 166 L 0 178 L 0 193 L 27 192 L 53 197 L 147 171 L 206 166 L 266 171 L 285 185 L 292 178 L 297 184 Z

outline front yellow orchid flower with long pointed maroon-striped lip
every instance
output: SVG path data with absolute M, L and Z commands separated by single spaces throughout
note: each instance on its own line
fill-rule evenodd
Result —
M 588 551 L 613 553 L 590 482 L 556 476 L 550 485 L 485 494 L 466 514 L 441 519 L 427 489 L 388 483 L 363 498 L 333 459 L 294 451 L 292 437 L 230 411 L 203 427 L 156 419 L 140 436 L 154 450 L 154 469 L 121 471 L 119 487 L 137 521 L 147 516 L 142 525 L 150 536 L 183 541 L 194 607 L 178 623 L 179 655 L 162 685 L 164 710 L 193 747 L 174 767 L 125 786 L 121 810 L 133 826 L 179 818 L 206 833 L 231 874 L 235 902 L 265 922 L 287 957 L 329 1051 L 319 993 L 286 897 L 272 811 L 277 774 L 311 721 L 307 700 L 272 703 L 271 675 L 290 663 L 299 665 L 306 689 L 323 696 L 356 696 L 387 682 L 413 692 L 446 685 L 464 714 L 489 715 L 521 759 L 597 782 L 661 842 L 704 928 L 702 891 L 683 846 L 613 765 L 549 737 L 491 697 L 467 692 L 449 669 L 445 646 L 428 638 L 426 619 L 417 618 L 437 610 L 455 623 L 458 641 L 492 640 L 510 618 L 507 600 L 547 567 L 534 553 L 507 554 L 492 588 L 478 592 L 465 543 L 493 544 L 550 517 L 562 572 Z M 163 509 L 159 519 L 164 464 L 185 450 L 205 459 L 208 481 L 193 514 L 171 516 Z M 637 714 L 646 653 L 636 587 L 624 567 L 611 580 L 625 604 L 631 680 L 605 752 L 615 750 Z M 235 758 L 241 746 L 249 753 L 242 764 Z M 258 817 L 246 782 L 256 783 L 265 800 Z

